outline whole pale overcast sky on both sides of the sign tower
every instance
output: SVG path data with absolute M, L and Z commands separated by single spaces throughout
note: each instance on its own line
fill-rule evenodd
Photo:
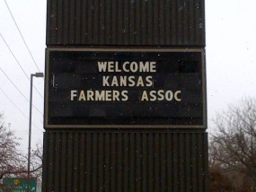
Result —
M 36 65 L 44 72 L 46 0 L 5 1 L 36 61 L 34 64 L 4 0 L 0 0 L 0 33 L 4 38 L 0 37 L 0 112 L 4 113 L 5 125 L 10 124 L 22 138 L 25 151 L 30 99 L 27 76 L 39 71 Z M 245 96 L 256 95 L 255 7 L 254 0 L 206 0 L 208 132 L 211 132 L 210 119 L 216 111 Z M 40 96 L 43 95 L 43 79 L 34 78 L 34 85 L 40 94 L 33 89 L 36 108 L 32 113 L 33 146 L 42 143 L 44 131 Z

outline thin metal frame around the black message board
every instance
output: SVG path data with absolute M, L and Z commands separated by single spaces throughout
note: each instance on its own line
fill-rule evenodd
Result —
M 202 124 L 199 125 L 64 125 L 49 124 L 49 53 L 51 51 L 80 51 L 80 52 L 199 52 L 201 53 L 202 75 Z M 46 81 L 45 81 L 45 118 L 46 128 L 206 128 L 207 127 L 207 99 L 206 99 L 206 68 L 205 49 L 203 48 L 46 48 Z

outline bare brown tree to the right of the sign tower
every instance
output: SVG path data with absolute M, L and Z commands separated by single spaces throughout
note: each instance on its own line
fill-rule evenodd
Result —
M 256 191 L 256 100 L 247 98 L 229 107 L 214 123 L 217 132 L 209 144 L 209 161 L 252 179 Z

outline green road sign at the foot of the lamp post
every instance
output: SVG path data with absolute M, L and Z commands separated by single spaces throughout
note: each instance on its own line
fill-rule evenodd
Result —
M 30 191 L 37 191 L 37 180 L 30 179 Z M 3 179 L 3 192 L 27 192 L 28 181 L 23 178 L 4 178 Z

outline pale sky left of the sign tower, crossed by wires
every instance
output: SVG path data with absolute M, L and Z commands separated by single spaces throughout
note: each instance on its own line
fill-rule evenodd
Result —
M 5 1 L 13 13 L 13 17 L 31 50 L 36 64 L 39 66 L 40 71 L 44 72 L 46 0 Z M 13 55 L 18 60 L 19 64 L 22 65 L 25 73 L 23 73 L 20 65 L 16 62 L 1 37 L 0 67 L 26 99 L 30 100 L 30 80 L 25 74 L 30 77 L 31 74 L 38 72 L 38 69 L 22 41 L 4 0 L 0 0 L 0 18 L 0 32 L 8 46 L 12 49 Z M 29 102 L 15 89 L 13 83 L 8 80 L 0 69 L 0 112 L 4 113 L 5 124 L 8 125 L 8 123 L 10 123 L 11 128 L 15 130 L 15 134 L 22 138 L 22 149 L 26 152 L 29 129 Z M 43 95 L 43 83 L 44 80 L 42 78 L 34 78 L 34 85 L 41 95 Z M 12 101 L 4 95 L 2 90 Z M 33 105 L 43 113 L 43 100 L 40 94 L 33 89 Z M 13 103 L 15 103 L 18 109 L 14 107 Z M 32 145 L 42 143 L 44 131 L 43 116 L 37 109 L 32 109 Z M 22 112 L 20 110 L 22 110 Z

